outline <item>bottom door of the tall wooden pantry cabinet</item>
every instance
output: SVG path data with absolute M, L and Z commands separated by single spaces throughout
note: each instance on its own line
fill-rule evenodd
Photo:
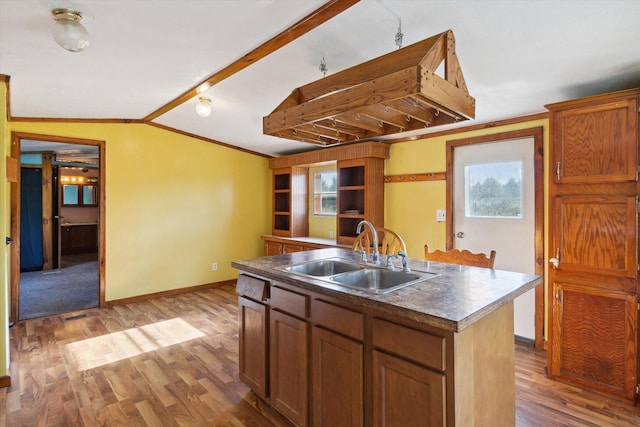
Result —
M 554 283 L 550 370 L 554 374 L 633 399 L 638 339 L 634 294 Z

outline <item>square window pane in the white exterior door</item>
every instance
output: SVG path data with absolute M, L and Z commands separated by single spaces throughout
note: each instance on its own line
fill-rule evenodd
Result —
M 466 165 L 465 216 L 522 218 L 522 162 Z

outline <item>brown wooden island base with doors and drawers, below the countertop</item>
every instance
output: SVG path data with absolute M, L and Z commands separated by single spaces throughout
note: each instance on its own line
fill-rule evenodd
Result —
M 236 290 L 240 379 L 298 426 L 515 425 L 513 303 L 452 332 L 245 273 Z

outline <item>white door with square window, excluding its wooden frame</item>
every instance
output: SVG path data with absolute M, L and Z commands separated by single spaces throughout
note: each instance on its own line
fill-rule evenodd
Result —
M 494 268 L 535 274 L 532 137 L 455 147 L 454 246 L 496 251 Z M 514 302 L 515 334 L 535 339 L 535 291 Z

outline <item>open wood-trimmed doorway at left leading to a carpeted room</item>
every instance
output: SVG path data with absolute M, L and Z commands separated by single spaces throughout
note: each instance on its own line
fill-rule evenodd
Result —
M 10 320 L 104 307 L 104 141 L 13 132 L 11 157 Z

